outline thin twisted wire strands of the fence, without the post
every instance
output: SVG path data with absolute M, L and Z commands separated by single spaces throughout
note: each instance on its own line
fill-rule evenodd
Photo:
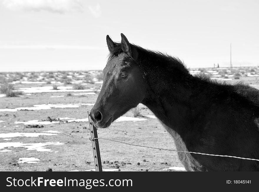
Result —
M 199 153 L 199 152 L 192 152 L 192 151 L 177 151 L 176 149 L 164 149 L 164 148 L 158 148 L 158 147 L 152 147 L 152 146 L 144 146 L 144 145 L 138 145 L 138 144 L 131 144 L 131 143 L 126 143 L 126 142 L 121 142 L 121 141 L 116 141 L 116 140 L 112 140 L 112 139 L 107 139 L 107 138 L 102 138 L 102 137 L 98 137 L 98 138 L 84 138 L 84 137 L 73 137 L 69 134 L 65 134 L 65 133 L 51 133 L 51 132 L 36 132 L 36 131 L 14 131 L 14 130 L 7 130 L 7 129 L 0 129 L 0 131 L 6 131 L 6 132 L 20 132 L 20 133 L 47 133 L 47 134 L 60 134 L 60 135 L 64 135 L 67 137 L 71 137 L 73 139 L 84 139 L 84 140 L 95 140 L 95 139 L 103 139 L 103 140 L 107 140 L 107 141 L 111 141 L 111 142 L 117 142 L 117 143 L 121 143 L 121 144 L 126 144 L 126 145 L 130 145 L 130 146 L 138 146 L 138 147 L 145 147 L 145 148 L 150 148 L 150 149 L 158 149 L 158 150 L 164 150 L 164 151 L 175 151 L 175 152 L 182 152 L 182 153 L 192 153 L 192 154 L 200 154 L 200 155 L 209 155 L 209 156 L 220 156 L 220 157 L 230 157 L 230 158 L 237 158 L 237 159 L 245 159 L 245 160 L 252 160 L 252 161 L 259 161 L 259 159 L 252 159 L 252 158 L 244 158 L 244 157 L 237 157 L 237 156 L 230 156 L 230 155 L 218 155 L 218 154 L 206 154 L 206 153 Z M 16 170 L 16 171 L 27 171 L 27 170 L 22 170 L 22 169 L 11 169 L 8 167 L 1 167 L 1 169 L 9 169 L 9 170 Z

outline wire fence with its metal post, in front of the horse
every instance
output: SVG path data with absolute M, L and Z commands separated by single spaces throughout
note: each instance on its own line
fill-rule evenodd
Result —
M 67 137 L 71 137 L 73 139 L 86 139 L 90 140 L 92 142 L 92 148 L 93 148 L 93 156 L 94 156 L 94 165 L 95 165 L 95 171 L 102 171 L 102 163 L 101 163 L 101 155 L 100 155 L 100 150 L 99 150 L 99 139 L 111 141 L 111 142 L 117 142 L 117 143 L 122 143 L 126 145 L 131 145 L 131 146 L 138 146 L 138 147 L 145 147 L 145 148 L 150 148 L 150 149 L 159 149 L 159 150 L 164 150 L 164 151 L 175 151 L 175 152 L 182 152 L 182 153 L 192 153 L 192 154 L 200 154 L 200 155 L 209 155 L 209 156 L 220 156 L 220 157 L 230 157 L 230 158 L 237 158 L 237 159 L 245 159 L 245 160 L 252 160 L 252 161 L 259 161 L 259 159 L 251 159 L 251 158 L 244 158 L 244 157 L 237 157 L 237 156 L 230 156 L 230 155 L 218 155 L 218 154 L 206 154 L 206 153 L 199 153 L 199 152 L 192 152 L 192 151 L 177 151 L 176 149 L 164 149 L 164 148 L 158 148 L 158 147 L 152 147 L 152 146 L 144 146 L 144 145 L 137 145 L 137 144 L 130 144 L 126 142 L 121 142 L 121 141 L 116 141 L 112 139 L 107 139 L 107 138 L 102 138 L 98 137 L 97 135 L 97 129 L 94 127 L 92 123 L 92 119 L 90 118 L 90 111 L 87 112 L 88 114 L 88 119 L 89 119 L 89 127 L 90 127 L 90 138 L 78 138 L 78 137 L 73 137 L 69 134 L 65 133 L 50 133 L 50 132 L 29 132 L 29 131 L 19 131 L 21 133 L 48 133 L 48 134 L 60 134 L 64 135 Z M 17 132 L 13 130 L 6 130 L 6 129 L 0 129 L 0 131 L 6 131 L 6 132 Z M 11 169 L 7 167 L 1 167 L 1 169 L 6 169 L 6 170 L 16 170 L 16 171 L 29 171 L 29 170 L 22 170 L 22 169 Z

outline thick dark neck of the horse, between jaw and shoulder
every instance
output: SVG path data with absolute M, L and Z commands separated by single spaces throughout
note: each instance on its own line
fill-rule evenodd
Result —
M 160 62 L 165 65 L 163 60 Z M 143 74 L 146 74 L 144 78 L 148 84 L 147 95 L 142 104 L 146 105 L 163 124 L 180 135 L 184 134 L 190 119 L 197 117 L 202 111 L 202 102 L 207 102 L 204 101 L 207 97 L 199 91 L 207 83 L 194 78 L 182 66 L 174 66 L 182 65 L 181 63 L 175 62 L 173 65 L 169 63 L 170 69 L 158 65 L 159 63 L 154 65 L 149 63 L 149 67 L 146 68 L 142 65 Z M 152 70 L 150 66 L 153 67 Z

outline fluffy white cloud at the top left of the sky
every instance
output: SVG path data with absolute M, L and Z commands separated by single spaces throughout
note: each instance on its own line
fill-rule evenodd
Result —
M 3 5 L 12 11 L 83 12 L 82 0 L 4 0 Z

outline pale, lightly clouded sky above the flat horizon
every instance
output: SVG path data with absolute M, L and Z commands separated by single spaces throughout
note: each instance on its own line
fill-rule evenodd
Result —
M 259 65 L 258 0 L 0 0 L 0 72 L 102 70 L 106 35 L 188 68 Z

